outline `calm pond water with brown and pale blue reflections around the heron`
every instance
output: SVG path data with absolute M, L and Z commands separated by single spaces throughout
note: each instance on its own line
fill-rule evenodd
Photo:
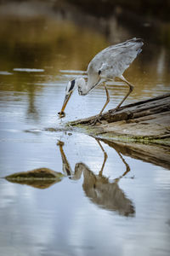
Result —
M 87 18 L 87 26 L 83 16 L 79 22 L 74 18 L 69 12 L 1 17 L 1 253 L 169 255 L 169 166 L 62 130 L 70 120 L 99 113 L 105 103 L 102 85 L 84 97 L 75 91 L 65 119 L 57 116 L 65 85 L 86 77 L 88 62 L 99 50 L 140 35 L 114 18 Z M 146 40 L 124 73 L 135 85 L 125 104 L 169 91 L 169 67 L 169 49 Z M 108 88 L 107 110 L 127 91 L 118 80 Z M 3 178 L 42 167 L 62 173 L 62 178 L 42 186 Z

